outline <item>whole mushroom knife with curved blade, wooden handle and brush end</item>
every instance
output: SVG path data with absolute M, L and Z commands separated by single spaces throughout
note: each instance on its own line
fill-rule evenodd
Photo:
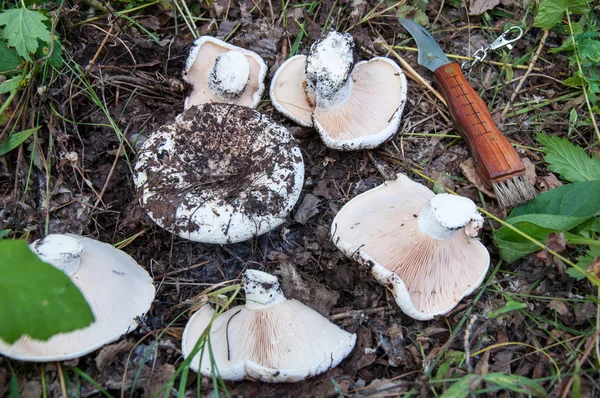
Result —
M 492 187 L 502 207 L 513 207 L 533 199 L 537 192 L 525 177 L 519 155 L 498 129 L 492 115 L 463 75 L 450 62 L 431 34 L 410 19 L 399 18 L 419 47 L 419 64 L 433 72 L 455 128 L 467 141 L 477 174 Z

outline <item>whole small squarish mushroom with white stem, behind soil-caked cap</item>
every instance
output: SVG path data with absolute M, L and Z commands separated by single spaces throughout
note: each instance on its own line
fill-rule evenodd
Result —
M 255 52 L 202 36 L 190 49 L 183 71 L 183 79 L 192 85 L 184 107 L 216 102 L 256 108 L 266 74 L 267 65 Z

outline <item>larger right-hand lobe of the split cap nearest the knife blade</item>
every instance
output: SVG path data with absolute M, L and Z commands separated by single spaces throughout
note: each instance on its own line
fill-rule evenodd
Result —
M 352 93 L 345 103 L 316 107 L 313 123 L 329 148 L 375 148 L 396 133 L 406 103 L 406 76 L 392 60 L 375 57 L 352 71 Z

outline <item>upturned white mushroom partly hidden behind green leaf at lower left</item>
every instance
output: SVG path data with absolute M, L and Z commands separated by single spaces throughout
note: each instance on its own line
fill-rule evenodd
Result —
M 47 341 L 22 336 L 0 340 L 0 354 L 30 362 L 64 361 L 88 354 L 137 327 L 154 300 L 152 278 L 125 252 L 77 235 L 48 235 L 30 245 L 45 262 L 65 272 L 92 309 L 95 321 Z

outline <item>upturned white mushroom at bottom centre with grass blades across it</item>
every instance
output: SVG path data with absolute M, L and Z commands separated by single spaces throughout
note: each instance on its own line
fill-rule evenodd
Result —
M 246 304 L 217 316 L 206 340 L 223 379 L 297 382 L 334 368 L 354 348 L 355 334 L 301 302 L 286 299 L 275 276 L 248 270 L 244 290 Z M 190 318 L 181 342 L 184 357 L 191 354 L 213 315 L 205 305 Z M 205 346 L 190 368 L 211 377 L 217 371 L 212 363 Z

